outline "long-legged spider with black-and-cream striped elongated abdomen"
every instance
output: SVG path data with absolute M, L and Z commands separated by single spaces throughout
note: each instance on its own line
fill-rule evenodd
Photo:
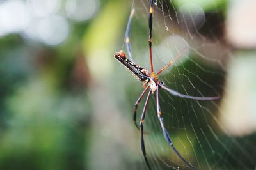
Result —
M 167 132 L 166 128 L 164 127 L 162 112 L 161 112 L 160 105 L 159 105 L 159 89 L 164 89 L 164 90 L 168 91 L 170 94 L 172 94 L 174 96 L 178 96 L 178 97 L 182 97 L 182 98 L 189 98 L 189 99 L 192 99 L 192 100 L 217 100 L 220 97 L 218 97 L 218 96 L 216 96 L 216 97 L 194 97 L 194 96 L 190 96 L 190 95 L 184 95 L 184 94 L 179 93 L 178 91 L 175 91 L 173 89 L 170 89 L 170 88 L 166 87 L 163 82 L 159 81 L 158 75 L 161 72 L 163 72 L 164 70 L 166 70 L 166 68 L 171 66 L 173 64 L 173 62 L 175 61 L 175 59 L 182 56 L 182 54 L 184 53 L 186 48 L 184 50 L 182 50 L 180 52 L 180 54 L 177 55 L 166 66 L 161 68 L 161 70 L 159 70 L 156 74 L 154 73 L 154 67 L 153 67 L 153 62 L 152 62 L 153 0 L 150 0 L 149 12 L 148 12 L 148 15 L 149 15 L 149 17 L 148 17 L 148 27 L 149 27 L 148 45 L 149 45 L 151 72 L 149 72 L 146 68 L 142 68 L 141 66 L 136 65 L 132 61 L 131 43 L 129 42 L 129 30 L 130 30 L 130 27 L 131 27 L 131 20 L 132 20 L 133 15 L 134 15 L 134 8 L 131 10 L 131 14 L 130 14 L 128 24 L 127 24 L 127 29 L 126 29 L 126 32 L 125 32 L 125 45 L 126 45 L 126 48 L 127 48 L 127 52 L 129 54 L 129 59 L 125 56 L 125 53 L 122 50 L 119 51 L 119 52 L 115 52 L 114 57 L 120 63 L 122 63 L 122 65 L 124 65 L 134 75 L 134 77 L 136 77 L 139 81 L 143 82 L 143 84 L 144 84 L 143 87 L 145 89 L 141 93 L 140 97 L 138 98 L 138 100 L 135 103 L 133 120 L 134 120 L 134 123 L 135 123 L 136 127 L 140 130 L 141 151 L 143 153 L 143 157 L 145 158 L 145 162 L 147 164 L 147 167 L 148 167 L 148 169 L 151 169 L 150 164 L 149 164 L 149 162 L 147 160 L 147 157 L 146 157 L 146 150 L 145 150 L 145 144 L 144 144 L 144 138 L 143 138 L 143 121 L 144 121 L 145 114 L 146 114 L 146 109 L 147 109 L 147 106 L 148 106 L 148 100 L 150 98 L 150 95 L 153 94 L 156 98 L 157 117 L 160 121 L 161 129 L 163 131 L 163 135 L 164 135 L 165 140 L 170 145 L 170 147 L 175 152 L 175 154 L 180 158 L 180 160 L 182 160 L 191 169 L 195 169 L 195 167 L 193 167 L 192 164 L 190 164 L 187 160 L 185 160 L 185 158 L 182 157 L 182 155 L 180 155 L 179 151 L 173 145 L 172 140 L 170 139 L 170 136 L 168 135 L 168 132 Z M 149 89 L 149 91 L 148 91 L 148 89 Z M 139 127 L 136 123 L 136 112 L 137 112 L 137 108 L 138 108 L 138 105 L 140 104 L 141 99 L 145 96 L 147 91 L 148 91 L 148 95 L 147 95 L 145 105 L 143 107 L 143 111 L 142 111 L 142 114 L 141 114 L 140 127 Z

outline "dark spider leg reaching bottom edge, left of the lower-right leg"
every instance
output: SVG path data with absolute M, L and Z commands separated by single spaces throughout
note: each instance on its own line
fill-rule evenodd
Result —
M 151 168 L 149 166 L 149 163 L 148 163 L 148 160 L 147 160 L 147 157 L 146 157 L 146 150 L 145 150 L 144 137 L 143 137 L 143 121 L 144 121 L 144 118 L 145 118 L 145 115 L 146 115 L 146 109 L 147 109 L 147 106 L 148 106 L 148 100 L 149 100 L 150 95 L 151 95 L 151 89 L 148 93 L 148 96 L 147 96 L 147 99 L 146 99 L 146 102 L 145 102 L 145 105 L 144 105 L 144 108 L 143 108 L 143 112 L 141 114 L 141 119 L 140 119 L 141 151 L 142 151 L 143 156 L 145 158 L 148 169 L 151 169 Z

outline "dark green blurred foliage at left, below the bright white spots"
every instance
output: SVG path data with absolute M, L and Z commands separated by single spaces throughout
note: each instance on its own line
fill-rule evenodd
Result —
M 0 39 L 0 169 L 86 169 L 92 106 L 80 49 L 87 23 L 57 47 Z

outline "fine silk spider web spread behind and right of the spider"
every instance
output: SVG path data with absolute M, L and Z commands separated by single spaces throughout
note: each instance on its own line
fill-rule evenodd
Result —
M 134 1 L 136 12 L 130 40 L 134 62 L 150 70 L 148 3 Z M 223 121 L 231 119 L 222 105 L 229 102 L 225 98 L 225 83 L 228 62 L 234 57 L 223 36 L 225 19 L 220 10 L 223 4 L 211 3 L 211 9 L 203 9 L 195 3 L 154 1 L 152 52 L 155 72 L 188 48 L 161 73 L 160 81 L 185 95 L 221 96 L 220 100 L 197 101 L 174 97 L 161 89 L 159 101 L 165 127 L 175 148 L 196 169 L 253 169 L 256 155 L 253 134 L 237 137 L 228 131 Z M 142 92 L 139 88 L 134 91 L 135 97 Z M 140 108 L 143 102 L 145 100 Z M 154 99 L 149 101 L 144 126 L 149 132 L 145 135 L 145 147 L 153 169 L 188 169 L 164 140 Z M 137 158 L 138 162 L 142 161 L 141 166 L 133 162 L 132 167 L 147 169 L 140 152 Z

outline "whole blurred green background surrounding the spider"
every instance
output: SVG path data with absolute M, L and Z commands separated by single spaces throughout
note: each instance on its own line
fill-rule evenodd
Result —
M 178 42 L 189 43 L 193 58 L 180 61 L 161 79 L 180 93 L 222 97 L 196 102 L 161 93 L 173 143 L 198 169 L 255 169 L 256 38 L 244 30 L 248 23 L 240 24 L 232 13 L 242 5 L 154 2 L 156 68 L 170 61 L 170 53 L 161 49 L 173 48 L 168 36 L 184 38 Z M 134 60 L 149 68 L 148 1 L 0 1 L 0 169 L 147 169 L 132 122 L 142 84 L 113 58 L 114 52 L 125 50 L 132 4 Z M 202 25 L 190 27 L 186 24 L 188 16 L 197 16 L 195 6 L 205 18 Z M 244 27 L 234 26 L 234 15 Z M 241 20 L 246 16 L 253 14 L 239 15 Z M 250 21 L 248 27 L 253 27 Z M 252 40 L 234 36 L 234 27 L 252 33 L 247 35 Z M 177 53 L 181 49 L 174 43 Z M 164 141 L 155 105 L 150 100 L 145 121 L 150 164 L 186 169 Z M 242 117 L 232 114 L 236 111 Z

